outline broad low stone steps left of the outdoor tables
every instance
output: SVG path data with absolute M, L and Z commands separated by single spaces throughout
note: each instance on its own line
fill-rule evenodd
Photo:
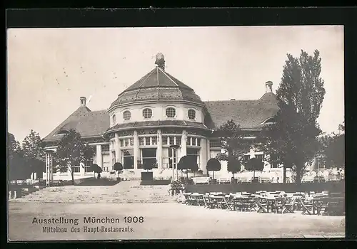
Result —
M 54 186 L 13 202 L 56 203 L 167 203 L 174 202 L 170 186 L 141 186 L 140 181 L 121 181 L 114 186 Z

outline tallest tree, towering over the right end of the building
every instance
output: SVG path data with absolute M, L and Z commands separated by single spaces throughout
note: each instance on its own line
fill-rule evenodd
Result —
M 275 116 L 276 123 L 263 128 L 265 139 L 261 142 L 271 147 L 268 151 L 282 160 L 285 169 L 286 165 L 291 166 L 298 184 L 306 162 L 316 154 L 317 137 L 321 134 L 317 119 L 325 89 L 320 73 L 321 58 L 317 50 L 313 56 L 301 51 L 299 58 L 288 54 L 276 91 L 280 109 Z

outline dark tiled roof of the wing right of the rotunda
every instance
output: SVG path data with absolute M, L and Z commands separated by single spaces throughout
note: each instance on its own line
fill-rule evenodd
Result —
M 204 123 L 211 129 L 218 129 L 228 120 L 241 128 L 260 128 L 265 120 L 278 112 L 276 95 L 267 92 L 259 100 L 223 100 L 205 102 L 208 111 Z

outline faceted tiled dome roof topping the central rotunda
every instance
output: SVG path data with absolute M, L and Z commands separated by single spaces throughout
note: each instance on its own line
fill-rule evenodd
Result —
M 111 103 L 111 107 L 146 100 L 186 100 L 203 105 L 201 98 L 192 88 L 166 73 L 161 67 L 156 66 L 143 78 L 121 92 L 118 98 Z

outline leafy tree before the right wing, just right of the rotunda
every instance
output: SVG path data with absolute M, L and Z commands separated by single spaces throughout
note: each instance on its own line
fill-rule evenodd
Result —
M 221 125 L 218 133 L 221 135 L 221 149 L 223 153 L 217 155 L 216 159 L 228 161 L 228 157 L 234 157 L 239 162 L 243 155 L 251 149 L 251 140 L 245 138 L 245 132 L 233 120 L 228 120 Z

